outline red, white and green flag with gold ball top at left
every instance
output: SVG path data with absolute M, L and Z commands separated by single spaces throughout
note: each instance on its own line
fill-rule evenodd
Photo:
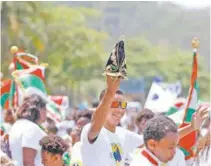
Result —
M 58 104 L 48 98 L 47 89 L 45 86 L 45 68 L 48 64 L 38 65 L 38 58 L 32 54 L 18 51 L 18 48 L 13 47 L 11 51 L 13 56 L 13 63 L 15 71 L 12 76 L 16 83 L 16 92 L 18 93 L 18 103 L 27 93 L 36 93 L 42 96 L 47 101 L 47 117 L 54 120 L 56 123 L 61 122 L 62 116 L 60 111 L 60 104 L 65 104 L 66 98 L 62 98 Z M 13 88 L 14 89 L 14 88 Z

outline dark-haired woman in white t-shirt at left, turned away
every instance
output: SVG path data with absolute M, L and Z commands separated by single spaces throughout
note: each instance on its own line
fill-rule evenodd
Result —
M 39 127 L 46 119 L 46 102 L 37 94 L 23 99 L 17 121 L 9 133 L 12 159 L 18 166 L 42 166 L 39 141 L 46 133 Z

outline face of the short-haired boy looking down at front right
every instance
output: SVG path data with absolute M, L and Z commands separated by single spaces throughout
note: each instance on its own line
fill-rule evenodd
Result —
M 178 133 L 169 132 L 160 141 L 149 140 L 148 148 L 160 161 L 167 163 L 173 159 L 178 141 Z

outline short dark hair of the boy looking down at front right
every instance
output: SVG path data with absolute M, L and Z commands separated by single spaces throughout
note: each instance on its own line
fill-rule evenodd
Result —
M 176 123 L 167 116 L 155 116 L 146 123 L 146 127 L 143 132 L 144 143 L 147 146 L 147 142 L 150 139 L 160 141 L 169 132 L 178 132 Z

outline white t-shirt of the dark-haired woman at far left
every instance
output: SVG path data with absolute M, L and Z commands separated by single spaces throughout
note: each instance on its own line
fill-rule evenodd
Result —
M 46 133 L 35 123 L 20 119 L 12 126 L 9 133 L 10 150 L 12 159 L 18 162 L 18 166 L 23 166 L 22 148 L 32 148 L 37 151 L 35 166 L 42 166 L 41 146 L 39 141 L 46 136 Z

